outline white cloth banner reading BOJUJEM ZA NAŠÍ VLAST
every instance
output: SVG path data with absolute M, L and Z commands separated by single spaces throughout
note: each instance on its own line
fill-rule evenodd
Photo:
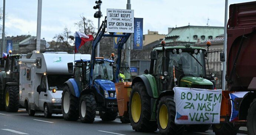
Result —
M 220 123 L 221 90 L 174 87 L 175 124 Z

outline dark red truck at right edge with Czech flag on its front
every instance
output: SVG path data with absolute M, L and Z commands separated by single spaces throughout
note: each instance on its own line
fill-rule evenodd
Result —
M 247 126 L 248 135 L 256 135 L 256 1 L 229 6 L 226 82 L 213 131 L 236 135 Z

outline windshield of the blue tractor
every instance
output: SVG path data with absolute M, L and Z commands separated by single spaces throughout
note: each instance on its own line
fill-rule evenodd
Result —
M 95 68 L 93 71 L 93 80 L 94 79 L 106 79 L 114 80 L 113 67 L 109 65 L 108 61 L 96 61 Z

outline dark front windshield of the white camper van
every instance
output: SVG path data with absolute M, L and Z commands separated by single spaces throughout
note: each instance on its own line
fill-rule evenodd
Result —
M 63 84 L 65 81 L 68 81 L 69 78 L 72 78 L 72 75 L 47 75 L 49 90 L 52 90 L 53 88 L 57 91 L 63 90 Z

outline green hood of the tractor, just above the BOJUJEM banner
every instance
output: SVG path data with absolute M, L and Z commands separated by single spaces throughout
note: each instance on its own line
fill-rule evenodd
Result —
M 180 82 L 187 82 L 190 85 L 213 85 L 211 81 L 201 77 L 183 77 Z

